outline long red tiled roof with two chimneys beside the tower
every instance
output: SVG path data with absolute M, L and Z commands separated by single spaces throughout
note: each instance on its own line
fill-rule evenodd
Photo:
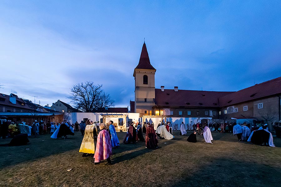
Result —
M 219 107 L 218 98 L 233 92 L 155 89 L 155 104 L 167 107 Z

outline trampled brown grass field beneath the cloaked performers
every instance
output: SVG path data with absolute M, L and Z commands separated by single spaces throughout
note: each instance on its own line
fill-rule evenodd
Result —
M 229 133 L 212 132 L 213 144 L 200 135 L 190 143 L 178 134 L 159 140 L 156 150 L 144 142 L 121 143 L 112 151 L 113 165 L 81 157 L 80 132 L 65 140 L 30 137 L 27 146 L 0 147 L 0 186 L 281 186 L 281 139 L 274 137 L 276 147 L 267 147 Z M 117 135 L 122 142 L 125 133 Z

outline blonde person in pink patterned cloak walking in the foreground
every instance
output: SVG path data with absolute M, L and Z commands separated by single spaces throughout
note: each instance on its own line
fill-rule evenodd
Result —
M 106 124 L 100 124 L 101 131 L 96 141 L 95 161 L 94 164 L 101 163 L 102 160 L 107 160 L 107 165 L 111 165 L 110 156 L 112 155 L 112 146 L 109 133 L 106 130 Z M 92 162 L 92 161 L 91 161 Z

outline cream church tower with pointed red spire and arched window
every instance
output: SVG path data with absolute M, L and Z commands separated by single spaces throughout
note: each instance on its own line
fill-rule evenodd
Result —
M 135 77 L 135 112 L 143 115 L 154 115 L 155 105 L 155 72 L 150 64 L 145 42 L 142 46 L 139 64 L 134 70 Z

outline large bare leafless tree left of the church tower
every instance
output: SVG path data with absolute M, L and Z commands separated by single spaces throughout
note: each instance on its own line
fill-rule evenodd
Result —
M 71 88 L 71 103 L 82 112 L 101 112 L 105 106 L 114 106 L 114 101 L 109 94 L 104 93 L 102 85 L 96 85 L 91 81 L 77 83 Z

